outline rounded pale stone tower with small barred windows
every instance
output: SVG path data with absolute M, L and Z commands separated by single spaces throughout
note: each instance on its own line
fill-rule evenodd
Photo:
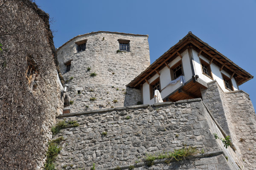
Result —
M 75 42 L 85 39 L 86 50 L 76 53 Z M 118 39 L 130 40 L 129 52 L 116 53 L 119 49 Z M 73 59 L 70 71 L 63 74 L 70 85 L 66 94 L 69 100 L 74 101 L 69 106 L 71 112 L 142 102 L 140 90 L 126 88 L 125 85 L 150 64 L 147 35 L 111 32 L 84 34 L 58 48 L 57 54 L 62 73 L 65 71 L 64 63 Z M 90 71 L 87 71 L 88 67 Z M 97 76 L 90 77 L 93 72 Z M 78 94 L 78 90 L 81 94 Z M 92 97 L 96 100 L 90 101 Z

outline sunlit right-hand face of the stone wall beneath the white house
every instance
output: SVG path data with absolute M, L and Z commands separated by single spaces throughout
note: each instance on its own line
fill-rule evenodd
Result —
M 244 91 L 225 93 L 230 111 L 234 143 L 241 151 L 241 159 L 247 169 L 256 167 L 256 115 L 248 94 Z

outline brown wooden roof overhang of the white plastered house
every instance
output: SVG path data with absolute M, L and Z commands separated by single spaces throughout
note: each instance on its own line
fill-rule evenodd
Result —
M 140 88 L 140 85 L 148 82 L 148 79 L 153 77 L 155 74 L 159 74 L 159 71 L 162 68 L 164 68 L 165 66 L 169 68 L 168 64 L 172 62 L 172 60 L 174 60 L 176 57 L 179 57 L 180 54 L 187 48 L 192 48 L 198 52 L 198 56 L 200 56 L 201 54 L 209 59 L 210 64 L 214 63 L 215 65 L 218 65 L 220 71 L 224 70 L 231 75 L 231 78 L 234 77 L 238 85 L 241 85 L 244 82 L 247 82 L 248 80 L 253 78 L 253 76 L 247 71 L 240 68 L 223 54 L 221 54 L 220 52 L 209 46 L 206 42 L 203 42 L 194 34 L 189 32 L 189 34 L 187 34 L 177 44 L 172 46 L 161 57 L 156 59 L 155 62 L 148 66 L 145 71 L 143 71 L 139 76 L 137 76 L 126 86 L 129 88 Z

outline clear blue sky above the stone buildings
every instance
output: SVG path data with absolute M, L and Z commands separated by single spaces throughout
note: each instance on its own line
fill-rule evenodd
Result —
M 151 63 L 189 31 L 256 76 L 256 0 L 35 0 L 55 47 L 92 31 L 148 34 Z M 256 78 L 239 86 L 256 107 Z

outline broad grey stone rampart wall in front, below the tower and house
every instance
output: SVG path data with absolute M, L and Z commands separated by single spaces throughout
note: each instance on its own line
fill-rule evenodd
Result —
M 200 99 L 61 117 L 64 118 L 66 121 L 76 120 L 80 126 L 61 130 L 54 137 L 63 136 L 66 139 L 61 143 L 62 150 L 56 160 L 59 169 L 90 169 L 93 163 L 96 163 L 96 169 L 127 166 L 143 160 L 147 153 L 174 151 L 184 145 L 204 149 L 206 153 L 223 150 L 229 157 L 228 166 L 227 161 L 219 164 L 218 156 L 213 156 L 185 161 L 183 165 L 176 162 L 149 169 L 169 166 L 207 169 L 211 164 L 213 169 L 225 166 L 238 169 L 232 149 L 225 149 L 220 140 L 214 138 L 213 133 L 222 138 L 223 135 Z M 102 135 L 102 132 L 107 132 L 107 135 Z

